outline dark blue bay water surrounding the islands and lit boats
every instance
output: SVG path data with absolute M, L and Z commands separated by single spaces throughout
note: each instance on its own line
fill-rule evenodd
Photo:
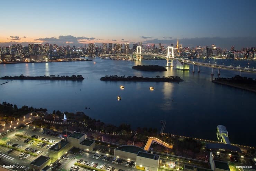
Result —
M 244 132 L 254 133 L 256 129 L 255 93 L 212 83 L 210 68 L 200 67 L 200 73 L 192 73 L 192 67 L 190 71 L 168 67 L 164 72 L 147 72 L 131 67 L 137 64 L 165 66 L 166 60 L 93 60 L 95 64 L 94 61 L 86 61 L 0 65 L 1 77 L 79 74 L 85 78 L 83 81 L 13 80 L 0 86 L 0 101 L 17 104 L 18 107 L 47 108 L 50 113 L 53 110 L 83 111 L 97 120 L 115 125 L 126 122 L 133 128 L 155 127 L 160 130 L 160 120 L 166 120 L 164 132 L 198 138 L 216 139 L 216 127 L 223 124 L 229 131 L 231 143 L 255 145 L 256 136 L 244 136 Z M 210 63 L 222 61 L 225 64 L 248 63 L 234 60 L 210 60 Z M 250 66 L 255 67 L 256 62 L 250 61 Z M 214 77 L 217 77 L 217 72 L 214 70 Z M 221 77 L 239 74 L 223 70 L 220 73 Z M 179 84 L 100 81 L 105 75 L 179 76 L 184 81 Z M 255 74 L 242 73 L 242 76 L 256 78 Z M 2 82 L 5 80 L 0 80 Z M 121 90 L 120 85 L 125 89 Z M 155 87 L 155 90 L 151 91 L 149 87 Z M 117 101 L 118 95 L 121 101 Z

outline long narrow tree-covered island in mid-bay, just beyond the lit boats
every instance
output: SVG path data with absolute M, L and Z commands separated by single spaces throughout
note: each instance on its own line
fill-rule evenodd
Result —
M 155 78 L 148 78 L 148 77 L 137 77 L 137 76 L 105 76 L 101 77 L 101 81 L 151 81 L 151 82 L 180 82 L 183 81 L 180 77 L 168 76 L 168 77 L 160 77 L 156 76 Z

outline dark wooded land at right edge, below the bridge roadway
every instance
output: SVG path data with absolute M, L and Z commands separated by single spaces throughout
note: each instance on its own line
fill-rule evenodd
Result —
M 212 82 L 256 92 L 256 80 L 252 78 L 237 75 L 232 78 L 215 78 Z

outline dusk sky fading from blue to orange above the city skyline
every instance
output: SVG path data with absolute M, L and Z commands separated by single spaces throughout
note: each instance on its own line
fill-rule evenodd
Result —
M 255 46 L 255 6 L 255 0 L 2 1 L 0 45 L 170 44 L 179 38 L 184 46 L 230 48 L 230 40 Z

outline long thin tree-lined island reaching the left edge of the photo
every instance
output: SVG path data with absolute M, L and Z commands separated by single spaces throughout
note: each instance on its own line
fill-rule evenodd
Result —
M 4 76 L 0 78 L 1 80 L 72 80 L 72 81 L 82 81 L 84 78 L 82 75 L 72 75 L 69 76 L 24 76 L 21 74 L 20 76 Z

